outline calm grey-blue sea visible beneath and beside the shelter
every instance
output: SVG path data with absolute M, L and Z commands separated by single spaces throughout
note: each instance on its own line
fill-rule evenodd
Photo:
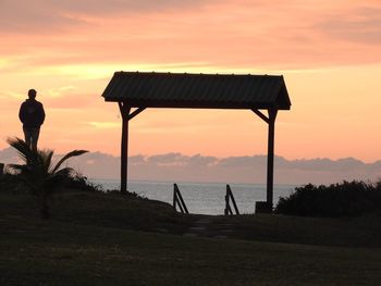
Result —
M 93 179 L 103 189 L 119 189 L 119 181 Z M 225 184 L 177 183 L 186 207 L 190 213 L 223 214 Z M 266 200 L 266 185 L 230 184 L 241 213 L 254 213 L 255 202 Z M 274 204 L 280 197 L 288 196 L 295 186 L 274 185 Z M 128 182 L 128 190 L 148 199 L 160 200 L 172 204 L 173 183 L 167 182 Z

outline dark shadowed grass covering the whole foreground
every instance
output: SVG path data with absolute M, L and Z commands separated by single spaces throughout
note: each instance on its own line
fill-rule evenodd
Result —
M 379 285 L 381 219 L 208 216 L 115 194 L 64 191 L 41 221 L 0 192 L 0 285 Z

